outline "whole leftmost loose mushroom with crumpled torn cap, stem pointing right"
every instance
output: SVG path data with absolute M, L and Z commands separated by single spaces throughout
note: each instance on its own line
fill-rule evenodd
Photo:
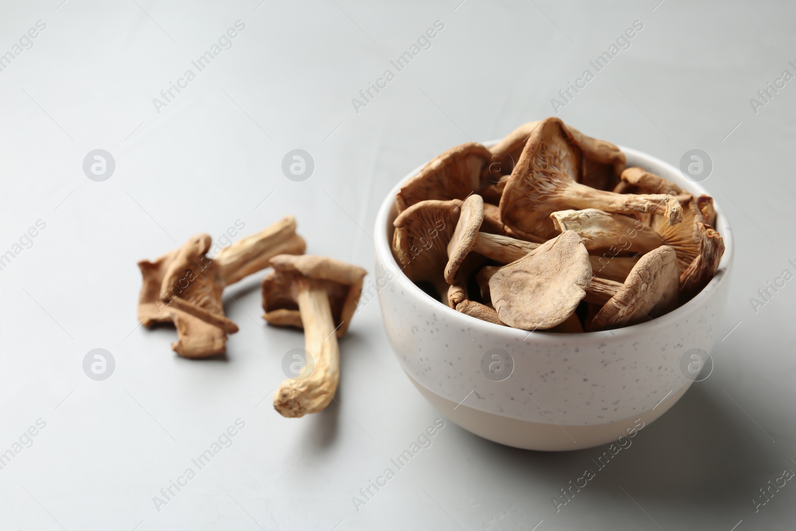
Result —
M 267 267 L 271 256 L 304 252 L 304 240 L 295 228 L 295 219 L 285 217 L 222 249 L 213 259 L 207 256 L 210 236 L 198 234 L 154 262 L 141 260 L 139 322 L 144 326 L 174 322 L 178 341 L 171 348 L 182 357 L 224 353 L 227 334 L 237 331 L 236 324 L 224 315 L 224 287 Z

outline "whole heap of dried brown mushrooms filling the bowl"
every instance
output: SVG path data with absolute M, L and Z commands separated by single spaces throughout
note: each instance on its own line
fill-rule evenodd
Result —
M 429 295 L 524 330 L 578 333 L 688 302 L 724 252 L 712 197 L 548 118 L 455 146 L 396 195 L 392 252 Z

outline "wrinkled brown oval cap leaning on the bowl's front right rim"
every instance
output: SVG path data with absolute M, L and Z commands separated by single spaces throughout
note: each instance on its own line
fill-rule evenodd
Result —
M 646 253 L 597 312 L 591 330 L 630 326 L 672 310 L 677 306 L 678 280 L 673 248 L 663 245 Z

